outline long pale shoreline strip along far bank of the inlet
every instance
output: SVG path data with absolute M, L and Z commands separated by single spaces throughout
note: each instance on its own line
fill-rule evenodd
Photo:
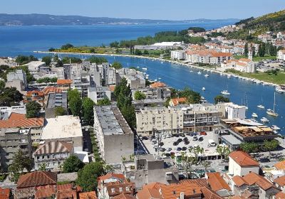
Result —
M 191 64 L 188 64 L 188 63 L 181 63 L 181 62 L 178 62 L 178 61 L 175 61 L 175 60 L 165 60 L 165 59 L 162 59 L 162 58 L 145 57 L 145 56 L 142 56 L 142 55 L 121 55 L 121 54 L 105 54 L 105 53 L 58 53 L 58 52 L 49 52 L 49 51 L 33 51 L 33 53 L 66 54 L 66 55 L 107 55 L 107 56 L 118 56 L 118 57 L 128 57 L 128 58 L 145 58 L 145 59 L 149 59 L 149 60 L 159 60 L 159 61 L 162 61 L 162 62 L 169 62 L 169 63 L 173 63 L 173 64 L 177 64 L 177 65 L 183 65 L 183 66 L 187 66 L 189 68 L 197 68 L 197 69 L 208 71 L 208 72 L 216 72 L 216 73 L 219 73 L 220 75 L 225 75 L 225 76 L 232 75 L 232 77 L 238 77 L 239 79 L 247 80 L 247 81 L 250 81 L 250 82 L 259 81 L 259 82 L 261 82 L 261 84 L 271 85 L 271 86 L 274 86 L 274 87 L 279 86 L 279 85 L 271 83 L 271 82 L 261 81 L 261 80 L 257 80 L 257 79 L 249 78 L 249 77 L 243 77 L 243 76 L 236 75 L 236 74 L 233 74 L 233 73 L 222 72 L 222 71 L 214 70 L 214 69 L 211 69 L 211 68 L 204 68 L 204 67 L 201 67 L 201 66 L 191 65 Z

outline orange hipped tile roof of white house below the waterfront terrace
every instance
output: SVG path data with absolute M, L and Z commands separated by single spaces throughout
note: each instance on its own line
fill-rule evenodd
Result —
M 229 154 L 229 157 L 239 164 L 239 166 L 259 166 L 259 163 L 252 156 L 244 153 L 244 151 L 233 151 Z

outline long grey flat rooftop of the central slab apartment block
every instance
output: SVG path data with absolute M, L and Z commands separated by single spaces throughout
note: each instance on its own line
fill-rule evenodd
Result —
M 125 118 L 115 105 L 94 108 L 100 122 L 103 134 L 133 134 Z

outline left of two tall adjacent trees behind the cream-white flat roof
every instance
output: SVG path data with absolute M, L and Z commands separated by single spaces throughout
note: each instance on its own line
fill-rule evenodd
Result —
M 73 116 L 81 117 L 82 100 L 81 94 L 77 89 L 68 90 L 68 107 L 71 109 Z

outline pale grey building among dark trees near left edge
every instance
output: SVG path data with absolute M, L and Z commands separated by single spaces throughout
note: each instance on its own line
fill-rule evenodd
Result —
M 28 86 L 26 73 L 23 70 L 16 70 L 7 74 L 6 87 L 16 87 L 19 91 L 24 91 Z

